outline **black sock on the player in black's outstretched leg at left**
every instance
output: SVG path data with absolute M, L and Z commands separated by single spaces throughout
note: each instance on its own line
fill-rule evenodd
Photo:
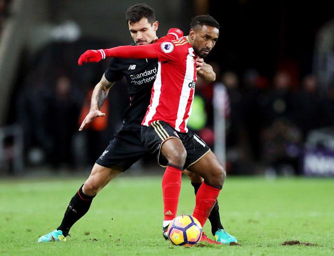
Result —
M 70 203 L 64 214 L 63 221 L 57 230 L 63 232 L 66 237 L 70 231 L 70 228 L 76 223 L 82 216 L 84 216 L 92 203 L 95 196 L 87 196 L 82 192 L 83 185 L 79 188 L 78 192 L 72 197 Z

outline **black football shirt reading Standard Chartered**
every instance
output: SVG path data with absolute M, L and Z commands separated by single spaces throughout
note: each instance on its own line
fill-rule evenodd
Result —
M 124 113 L 122 128 L 141 128 L 150 105 L 157 71 L 158 59 L 112 58 L 104 75 L 109 82 L 117 82 L 126 77 L 130 95 L 130 106 Z

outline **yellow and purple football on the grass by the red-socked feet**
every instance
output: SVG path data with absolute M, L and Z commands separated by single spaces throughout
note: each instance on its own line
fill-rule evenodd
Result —
M 175 246 L 193 246 L 202 237 L 202 226 L 191 215 L 177 216 L 167 229 L 168 239 Z

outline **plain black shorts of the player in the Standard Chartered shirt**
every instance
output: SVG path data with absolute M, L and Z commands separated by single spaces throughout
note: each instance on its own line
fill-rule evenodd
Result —
M 150 155 L 141 139 L 140 128 L 122 128 L 112 139 L 96 163 L 104 167 L 119 167 L 126 171 L 143 156 Z

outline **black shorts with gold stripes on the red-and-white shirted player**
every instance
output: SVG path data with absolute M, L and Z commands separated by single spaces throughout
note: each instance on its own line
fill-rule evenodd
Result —
M 161 145 L 169 138 L 179 138 L 187 151 L 184 168 L 197 162 L 202 158 L 210 148 L 208 145 L 192 131 L 179 132 L 163 121 L 154 121 L 150 127 L 142 126 L 142 140 L 144 146 L 151 153 L 157 154 L 158 163 L 166 167 L 167 159 L 160 153 Z

